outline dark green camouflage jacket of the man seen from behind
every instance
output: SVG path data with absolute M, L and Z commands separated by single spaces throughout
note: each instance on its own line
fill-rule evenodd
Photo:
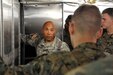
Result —
M 105 57 L 105 55 L 96 44 L 84 43 L 72 52 L 59 52 L 37 57 L 26 65 L 18 66 L 14 72 L 17 75 L 64 75 L 75 67 L 102 57 Z M 11 72 L 6 70 L 4 73 L 9 75 Z

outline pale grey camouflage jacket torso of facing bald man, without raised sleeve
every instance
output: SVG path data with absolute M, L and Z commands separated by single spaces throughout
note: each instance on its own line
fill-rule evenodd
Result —
M 54 38 L 52 44 L 46 44 L 44 39 L 42 39 L 36 49 L 37 49 L 37 56 L 43 54 L 51 54 L 59 51 L 70 51 L 68 45 L 57 37 Z

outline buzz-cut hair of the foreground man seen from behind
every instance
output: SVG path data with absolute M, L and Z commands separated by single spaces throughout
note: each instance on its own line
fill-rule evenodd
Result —
M 81 5 L 75 10 L 72 21 L 80 33 L 95 35 L 101 27 L 101 13 L 95 5 Z

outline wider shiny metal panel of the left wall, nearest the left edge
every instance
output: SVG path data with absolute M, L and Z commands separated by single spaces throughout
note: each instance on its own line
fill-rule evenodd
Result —
M 11 63 L 12 52 L 12 0 L 3 0 L 3 60 L 6 64 Z

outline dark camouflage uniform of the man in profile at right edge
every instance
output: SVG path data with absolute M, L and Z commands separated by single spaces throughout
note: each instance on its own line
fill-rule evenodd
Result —
M 113 34 L 108 35 L 107 32 L 105 32 L 97 44 L 106 55 L 113 54 Z

